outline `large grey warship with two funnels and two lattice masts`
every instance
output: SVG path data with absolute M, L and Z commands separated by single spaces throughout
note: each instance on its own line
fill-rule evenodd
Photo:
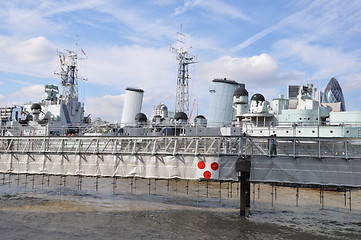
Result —
M 0 109 L 3 136 L 277 136 L 360 138 L 361 111 L 345 111 L 342 90 L 332 78 L 326 93 L 312 84 L 289 86 L 289 97 L 267 101 L 261 93 L 249 97 L 245 84 L 214 79 L 208 118 L 189 113 L 188 65 L 196 63 L 185 48 L 172 48 L 179 60 L 174 112 L 156 104 L 148 118 L 142 113 L 144 90 L 126 88 L 120 124 L 91 121 L 84 116 L 78 95 L 78 53 L 59 52 L 62 92 L 44 86 L 45 98 L 36 103 Z M 338 87 L 338 88 L 337 88 Z M 337 92 L 341 91 L 341 92 Z M 330 95 L 331 94 L 331 95 Z M 337 97 L 337 94 L 341 94 Z M 333 96 L 330 100 L 330 96 Z M 190 115 L 190 116 L 188 116 Z

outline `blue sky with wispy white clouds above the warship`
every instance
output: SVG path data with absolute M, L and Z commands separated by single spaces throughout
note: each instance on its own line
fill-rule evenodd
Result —
M 288 85 L 324 90 L 335 77 L 346 109 L 361 110 L 359 0 L 12 0 L 0 2 L 0 23 L 0 106 L 43 99 L 45 84 L 60 85 L 57 50 L 72 49 L 86 58 L 79 92 L 92 119 L 119 122 L 127 87 L 144 90 L 148 117 L 158 103 L 174 110 L 171 47 L 182 32 L 197 59 L 193 112 L 207 116 L 215 78 L 271 101 Z

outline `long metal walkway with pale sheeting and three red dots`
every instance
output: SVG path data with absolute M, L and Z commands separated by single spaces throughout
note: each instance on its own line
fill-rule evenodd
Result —
M 1 137 L 0 172 L 361 187 L 361 140 L 262 137 Z M 273 141 L 272 141 L 273 142 Z M 202 164 L 198 164 L 203 162 Z M 217 166 L 217 167 L 215 167 Z M 205 171 L 207 173 L 205 175 Z

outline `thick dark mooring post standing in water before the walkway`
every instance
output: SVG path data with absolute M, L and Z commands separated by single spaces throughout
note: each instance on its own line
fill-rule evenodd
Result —
M 251 185 L 249 182 L 251 161 L 249 157 L 243 157 L 236 162 L 236 171 L 240 187 L 240 215 L 249 216 L 251 207 Z

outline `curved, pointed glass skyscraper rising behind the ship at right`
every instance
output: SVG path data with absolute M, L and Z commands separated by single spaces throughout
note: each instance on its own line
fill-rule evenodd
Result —
M 331 78 L 322 95 L 322 103 L 341 103 L 340 111 L 346 111 L 342 89 L 336 78 Z

